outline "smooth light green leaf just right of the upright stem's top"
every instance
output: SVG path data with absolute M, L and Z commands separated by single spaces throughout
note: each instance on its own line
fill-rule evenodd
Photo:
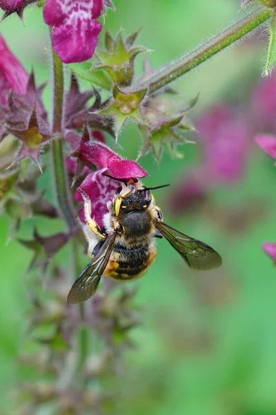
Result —
M 102 69 L 91 68 L 91 62 L 81 62 L 79 64 L 69 64 L 69 68 L 75 75 L 83 80 L 101 86 L 108 91 L 112 88 L 112 82 Z

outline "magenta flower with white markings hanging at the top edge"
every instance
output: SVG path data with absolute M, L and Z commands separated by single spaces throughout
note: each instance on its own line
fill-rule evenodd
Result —
M 102 0 L 47 0 L 46 24 L 53 26 L 52 44 L 62 62 L 83 62 L 92 57 L 98 43 Z

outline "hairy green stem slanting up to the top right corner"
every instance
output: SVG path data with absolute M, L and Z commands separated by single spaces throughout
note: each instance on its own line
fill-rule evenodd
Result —
M 158 73 L 153 74 L 147 80 L 137 86 L 137 89 L 145 88 L 149 85 L 149 93 L 154 93 L 158 89 L 163 88 L 170 82 L 188 73 L 206 60 L 213 57 L 221 50 L 224 50 L 239 39 L 242 39 L 248 33 L 262 25 L 270 18 L 271 10 L 259 6 L 252 12 L 242 17 L 235 24 L 222 30 L 217 35 L 208 39 L 204 44 L 195 48 L 192 52 L 187 53 L 174 63 L 161 68 Z

